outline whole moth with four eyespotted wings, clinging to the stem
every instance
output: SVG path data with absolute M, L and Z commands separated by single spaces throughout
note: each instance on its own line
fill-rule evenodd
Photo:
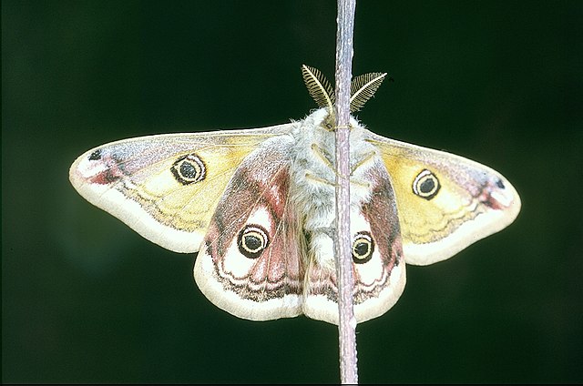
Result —
M 357 76 L 351 112 L 386 74 Z M 334 93 L 302 66 L 320 108 L 287 124 L 136 137 L 88 150 L 69 178 L 87 200 L 146 239 L 198 252 L 194 279 L 248 320 L 300 314 L 338 323 L 334 268 Z M 504 229 L 520 198 L 464 157 L 381 137 L 351 117 L 353 306 L 362 322 L 404 290 L 405 263 L 448 259 Z

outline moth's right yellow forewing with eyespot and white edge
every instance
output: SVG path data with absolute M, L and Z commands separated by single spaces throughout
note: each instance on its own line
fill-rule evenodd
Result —
M 517 218 L 517 190 L 495 170 L 371 132 L 368 141 L 393 182 L 407 263 L 448 259 Z

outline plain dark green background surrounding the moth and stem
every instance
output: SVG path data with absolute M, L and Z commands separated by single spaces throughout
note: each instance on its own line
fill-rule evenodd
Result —
M 4 1 L 2 380 L 335 382 L 337 330 L 238 320 L 194 256 L 142 239 L 70 186 L 90 147 L 262 127 L 333 77 L 335 3 Z M 365 2 L 353 73 L 386 71 L 373 131 L 496 168 L 517 221 L 409 267 L 358 326 L 363 382 L 583 381 L 583 3 Z

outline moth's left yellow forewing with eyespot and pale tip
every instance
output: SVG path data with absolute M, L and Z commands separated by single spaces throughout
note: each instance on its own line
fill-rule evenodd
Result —
M 89 202 L 160 246 L 196 252 L 243 158 L 292 124 L 137 137 L 78 157 L 69 179 Z

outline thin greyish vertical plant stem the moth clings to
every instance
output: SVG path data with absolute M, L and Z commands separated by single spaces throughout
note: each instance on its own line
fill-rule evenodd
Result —
M 356 319 L 353 312 L 353 259 L 350 233 L 350 83 L 353 67 L 353 31 L 356 0 L 338 0 L 336 33 L 336 277 L 340 378 L 358 382 Z

